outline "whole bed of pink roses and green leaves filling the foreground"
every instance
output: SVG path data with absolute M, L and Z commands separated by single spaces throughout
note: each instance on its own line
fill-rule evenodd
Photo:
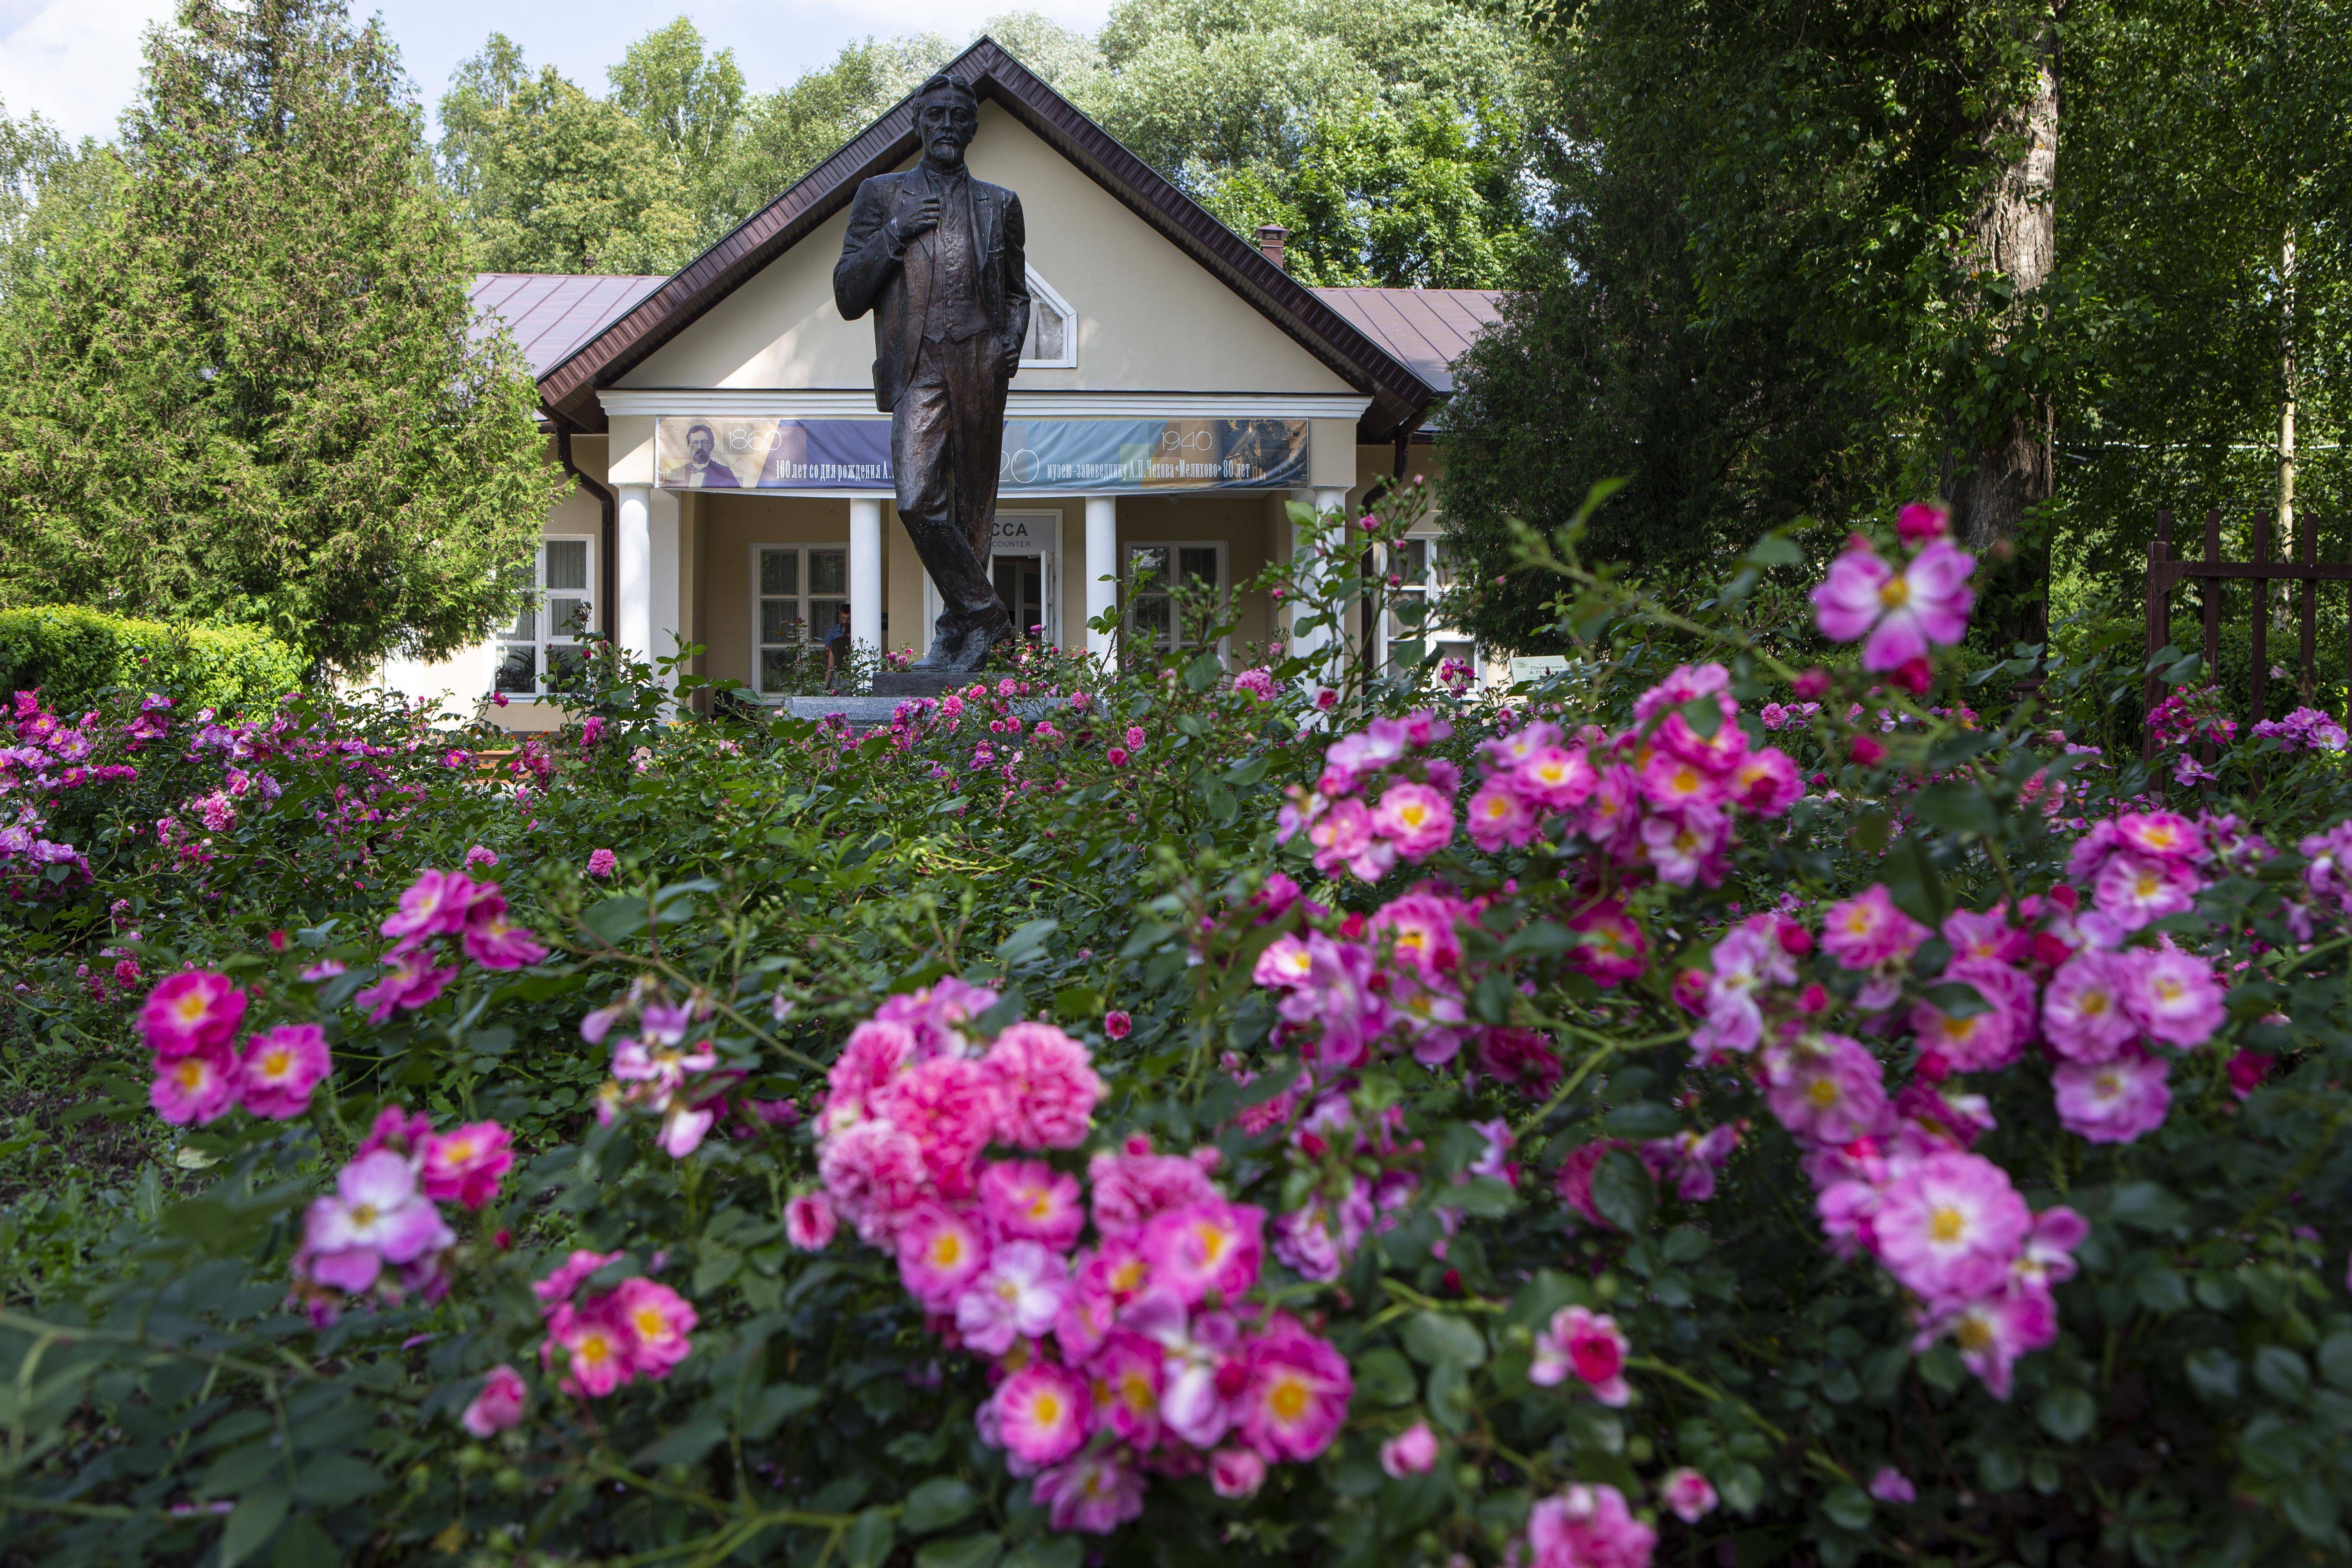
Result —
M 1404 527 L 1367 522 L 1341 559 Z M 78 870 L 12 893 L 12 1063 L 167 1175 L 118 1222 L 9 1199 L 0 1244 L 68 1260 L 0 1314 L 9 1528 L 223 1563 L 2352 1549 L 2326 726 L 2237 743 L 2185 693 L 2192 795 L 2067 741 L 2138 670 L 1985 717 L 1926 508 L 1828 567 L 1858 658 L 1813 665 L 1726 628 L 1785 541 L 1700 621 L 1571 550 L 1531 569 L 1576 686 L 1503 705 L 1272 649 L 1014 670 L 866 738 L 647 693 L 501 783 L 414 715 L 26 698 L 0 799 Z

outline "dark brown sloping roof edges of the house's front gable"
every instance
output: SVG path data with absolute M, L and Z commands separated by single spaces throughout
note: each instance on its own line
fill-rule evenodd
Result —
M 1030 75 L 993 38 L 981 38 L 943 71 L 971 82 L 981 99 L 1000 103 L 1176 249 L 1249 301 L 1268 322 L 1331 367 L 1348 386 L 1371 397 L 1371 407 L 1357 423 L 1362 440 L 1395 440 L 1421 423 L 1430 400 L 1439 393 L 1428 376 L 1258 254 L 1256 244 L 1209 216 L 1200 202 L 1155 174 L 1110 132 Z M 602 430 L 604 409 L 597 402 L 602 388 L 642 364 L 647 355 L 694 324 L 760 268 L 847 207 L 866 179 L 896 169 L 917 148 L 915 99 L 908 94 L 896 108 L 851 136 L 833 158 L 816 165 L 800 183 L 637 299 L 602 331 L 539 371 L 541 402 L 572 428 Z

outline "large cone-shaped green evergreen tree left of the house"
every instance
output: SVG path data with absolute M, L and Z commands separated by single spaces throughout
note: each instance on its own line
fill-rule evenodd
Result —
M 245 621 L 336 668 L 475 642 L 560 477 L 513 348 L 468 336 L 390 42 L 191 0 L 146 49 L 118 200 L 64 181 L 64 242 L 12 249 L 0 602 Z

